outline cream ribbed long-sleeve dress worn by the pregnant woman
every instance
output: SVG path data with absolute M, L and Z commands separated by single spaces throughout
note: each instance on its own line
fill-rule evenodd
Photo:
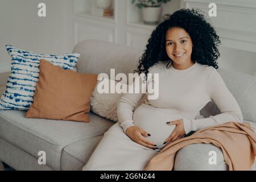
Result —
M 162 148 L 164 139 L 175 127 L 167 125 L 167 121 L 183 119 L 185 134 L 229 121 L 243 122 L 240 106 L 215 68 L 195 63 L 179 70 L 172 65 L 167 69 L 166 65 L 167 62 L 160 61 L 149 69 L 153 76 L 148 80 L 148 87 L 159 81 L 157 99 L 147 99 L 136 110 L 143 93 L 127 93 L 119 99 L 118 123 L 104 134 L 83 170 L 142 170 L 159 151 L 133 142 L 125 134 L 129 126 L 142 127 L 151 134 L 147 139 Z M 159 80 L 154 73 L 159 73 Z M 195 119 L 209 101 L 215 102 L 220 114 Z M 209 150 L 217 153 L 215 166 L 208 162 Z M 227 166 L 220 148 L 212 144 L 192 144 L 177 152 L 174 169 L 226 170 Z

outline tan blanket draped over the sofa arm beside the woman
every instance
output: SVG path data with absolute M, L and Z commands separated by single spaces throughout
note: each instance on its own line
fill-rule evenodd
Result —
M 256 134 L 249 123 L 228 122 L 211 126 L 167 145 L 144 168 L 149 171 L 172 170 L 180 148 L 193 143 L 212 143 L 221 148 L 229 171 L 250 170 L 256 155 Z

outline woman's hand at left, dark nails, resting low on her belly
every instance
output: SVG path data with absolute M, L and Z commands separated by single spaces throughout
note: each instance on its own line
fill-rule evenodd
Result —
M 126 135 L 134 142 L 141 144 L 144 147 L 151 148 L 152 150 L 158 149 L 156 144 L 147 140 L 145 137 L 150 137 L 147 131 L 137 126 L 130 126 L 126 129 Z

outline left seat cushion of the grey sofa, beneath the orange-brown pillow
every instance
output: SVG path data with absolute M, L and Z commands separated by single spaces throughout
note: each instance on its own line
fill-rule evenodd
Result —
M 25 118 L 26 111 L 0 111 L 0 138 L 39 158 L 46 152 L 46 164 L 60 170 L 61 152 L 65 146 L 82 139 L 104 134 L 113 121 L 90 112 L 90 123 Z

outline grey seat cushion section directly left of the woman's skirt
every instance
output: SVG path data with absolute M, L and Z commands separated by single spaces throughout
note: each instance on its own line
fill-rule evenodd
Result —
M 65 171 L 81 171 L 102 137 L 103 135 L 83 139 L 65 147 L 61 155 L 61 169 Z

